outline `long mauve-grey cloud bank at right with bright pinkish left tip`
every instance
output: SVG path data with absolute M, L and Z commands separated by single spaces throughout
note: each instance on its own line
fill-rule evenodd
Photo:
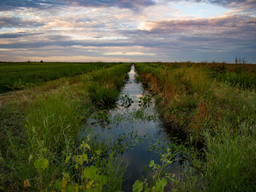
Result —
M 227 35 L 227 32 L 235 32 L 235 35 L 250 33 L 251 37 L 255 37 L 256 17 L 247 15 L 227 15 L 212 18 L 195 18 L 186 20 L 155 20 L 145 21 L 138 26 L 142 34 L 212 34 Z M 235 30 L 233 30 L 235 29 Z

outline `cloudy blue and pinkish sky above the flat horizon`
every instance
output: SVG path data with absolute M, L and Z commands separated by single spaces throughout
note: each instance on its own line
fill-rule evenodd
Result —
M 0 61 L 256 64 L 256 0 L 0 0 Z

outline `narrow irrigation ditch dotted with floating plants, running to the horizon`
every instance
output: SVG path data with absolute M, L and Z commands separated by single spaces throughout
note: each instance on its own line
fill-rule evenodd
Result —
M 114 146 L 123 163 L 128 164 L 123 182 L 123 191 L 131 191 L 136 180 L 147 178 L 145 166 L 152 160 L 162 164 L 162 154 L 169 149 L 177 152 L 177 147 L 184 143 L 181 133 L 165 127 L 155 107 L 155 98 L 148 93 L 143 84 L 135 78 L 134 65 L 128 73 L 129 79 L 122 89 L 121 96 L 115 105 L 106 110 L 103 107 L 89 118 L 79 137 L 91 135 L 94 140 L 106 141 Z M 166 170 L 173 178 L 182 171 L 184 154 L 178 152 Z M 151 180 L 152 174 L 148 175 Z M 172 189 L 171 183 L 165 191 Z

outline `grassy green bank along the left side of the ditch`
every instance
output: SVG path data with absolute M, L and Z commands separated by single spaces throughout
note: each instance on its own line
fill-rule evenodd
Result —
M 3 102 L 0 187 L 6 191 L 121 190 L 126 169 L 122 159 L 104 142 L 78 134 L 88 116 L 100 110 L 96 102 L 107 105 L 117 99 L 130 67 L 102 65 L 61 79 L 60 84 L 56 81 L 57 88 L 49 92 L 38 92 L 40 86 L 36 92 L 30 89 L 20 96 L 18 106 Z

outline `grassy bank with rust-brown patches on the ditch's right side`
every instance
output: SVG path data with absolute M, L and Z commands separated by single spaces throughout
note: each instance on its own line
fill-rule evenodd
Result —
M 165 122 L 191 138 L 181 191 L 255 191 L 256 67 L 138 63 Z M 194 141 L 204 144 L 201 152 Z M 202 152 L 203 151 L 203 152 Z M 189 174 L 187 174 L 189 173 Z

